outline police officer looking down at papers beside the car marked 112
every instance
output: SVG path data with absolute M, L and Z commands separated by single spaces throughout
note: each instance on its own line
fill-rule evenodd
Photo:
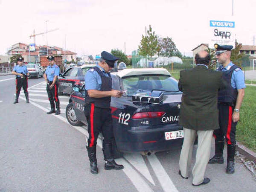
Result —
M 90 160 L 90 172 L 98 173 L 96 160 L 96 144 L 99 132 L 102 132 L 103 154 L 105 159 L 105 169 L 123 169 L 122 165 L 116 164 L 112 154 L 113 127 L 110 102 L 111 96 L 121 97 L 122 92 L 112 90 L 112 79 L 110 70 L 114 67 L 115 61 L 119 58 L 103 51 L 101 60 L 96 67 L 88 70 L 84 80 L 87 106 L 84 108 L 84 113 L 88 122 L 88 157 Z

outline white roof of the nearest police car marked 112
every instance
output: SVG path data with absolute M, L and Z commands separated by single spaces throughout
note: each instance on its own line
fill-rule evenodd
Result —
M 167 75 L 171 76 L 168 70 L 164 68 L 143 68 L 143 69 L 123 69 L 112 73 L 120 78 L 137 75 Z

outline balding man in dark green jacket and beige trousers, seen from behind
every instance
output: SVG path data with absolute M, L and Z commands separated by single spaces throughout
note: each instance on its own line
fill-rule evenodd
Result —
M 213 130 L 218 124 L 218 90 L 225 88 L 222 74 L 208 70 L 210 55 L 201 51 L 195 55 L 195 68 L 180 71 L 178 83 L 183 92 L 180 108 L 179 124 L 183 126 L 184 141 L 180 153 L 179 175 L 184 179 L 189 176 L 193 144 L 198 135 L 198 149 L 195 166 L 192 170 L 192 185 L 209 183 L 204 173 L 211 151 Z

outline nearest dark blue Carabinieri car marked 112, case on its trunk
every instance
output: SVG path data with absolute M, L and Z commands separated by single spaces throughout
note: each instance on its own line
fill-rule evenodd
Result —
M 182 145 L 183 128 L 178 125 L 182 93 L 166 69 L 123 69 L 111 77 L 113 89 L 123 92 L 121 98 L 111 99 L 117 151 L 150 155 Z M 71 125 L 87 123 L 84 105 L 84 86 L 74 88 L 66 108 Z

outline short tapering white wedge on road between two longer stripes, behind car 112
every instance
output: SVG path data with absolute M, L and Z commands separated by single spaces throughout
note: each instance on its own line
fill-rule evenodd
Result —
M 148 181 L 155 185 L 154 180 L 152 179 L 148 167 L 145 164 L 145 161 L 141 154 L 124 154 L 126 160 L 128 160 Z

